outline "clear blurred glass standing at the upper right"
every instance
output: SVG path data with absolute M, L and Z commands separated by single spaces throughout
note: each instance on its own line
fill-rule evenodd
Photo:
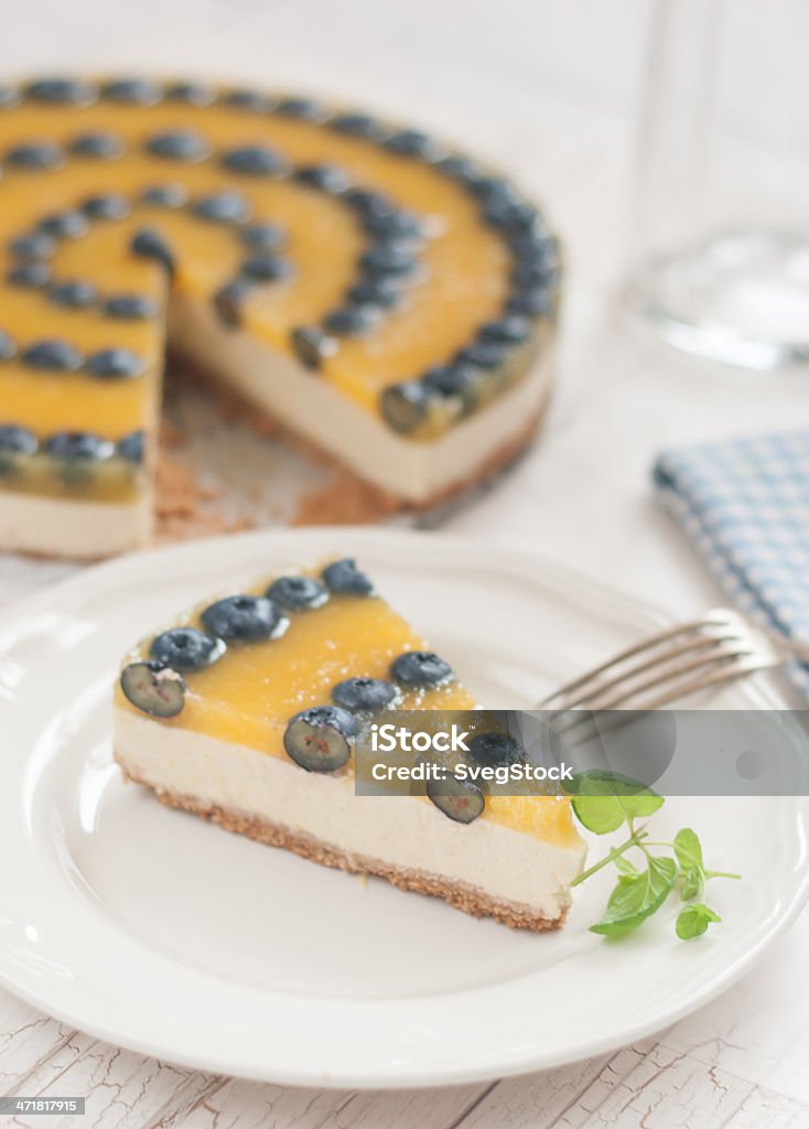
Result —
M 754 369 L 809 360 L 809 2 L 654 0 L 631 306 Z

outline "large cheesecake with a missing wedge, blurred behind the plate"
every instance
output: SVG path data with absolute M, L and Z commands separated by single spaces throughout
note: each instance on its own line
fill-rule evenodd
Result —
M 151 79 L 0 88 L 0 548 L 152 528 L 166 343 L 394 506 L 529 441 L 557 240 L 489 168 L 308 98 Z

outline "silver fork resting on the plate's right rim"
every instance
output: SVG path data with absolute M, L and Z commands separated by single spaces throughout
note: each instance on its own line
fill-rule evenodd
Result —
M 716 607 L 660 631 L 560 686 L 537 709 L 659 709 L 710 686 L 794 662 L 809 646 Z

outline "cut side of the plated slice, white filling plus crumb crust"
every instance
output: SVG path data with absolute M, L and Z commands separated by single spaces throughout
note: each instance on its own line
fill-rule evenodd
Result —
M 201 734 L 186 744 L 187 730 L 123 710 L 115 729 L 114 755 L 125 779 L 169 807 L 512 929 L 545 933 L 564 925 L 570 883 L 586 854 L 578 834 L 559 847 L 489 820 L 460 825 L 424 798 L 358 797 L 350 777 L 307 773 L 291 761 Z

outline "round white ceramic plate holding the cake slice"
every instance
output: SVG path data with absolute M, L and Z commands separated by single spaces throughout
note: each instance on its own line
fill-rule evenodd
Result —
M 661 1029 L 783 931 L 807 898 L 803 799 L 670 799 L 661 832 L 697 826 L 711 865 L 744 879 L 715 883 L 724 922 L 698 942 L 677 942 L 663 914 L 610 944 L 587 928 L 608 877 L 582 887 L 561 933 L 510 933 L 124 787 L 109 747 L 121 653 L 209 589 L 332 552 L 357 553 L 492 704 L 527 704 L 661 622 L 566 569 L 390 530 L 187 544 L 41 593 L 0 622 L 0 978 L 12 991 L 206 1070 L 434 1085 L 556 1066 Z M 777 700 L 748 683 L 712 704 Z

